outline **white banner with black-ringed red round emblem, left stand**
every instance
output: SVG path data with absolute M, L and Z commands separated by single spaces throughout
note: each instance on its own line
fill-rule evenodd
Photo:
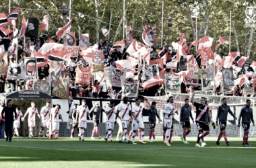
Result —
M 25 79 L 33 80 L 38 79 L 38 69 L 36 58 L 34 57 L 25 57 Z

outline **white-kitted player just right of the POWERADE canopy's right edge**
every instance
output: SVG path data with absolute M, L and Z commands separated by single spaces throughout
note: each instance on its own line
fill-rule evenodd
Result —
M 58 138 L 58 134 L 59 134 L 59 118 L 61 118 L 61 121 L 62 121 L 62 124 L 63 124 L 63 119 L 62 119 L 59 107 L 60 107 L 59 104 L 57 104 L 55 106 L 55 108 L 51 109 L 51 113 L 50 113 L 51 139 L 53 138 L 53 132 L 55 132 L 55 139 Z

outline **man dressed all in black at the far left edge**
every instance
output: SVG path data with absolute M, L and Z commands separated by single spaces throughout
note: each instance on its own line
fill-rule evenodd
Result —
M 3 115 L 3 113 L 5 115 Z M 1 112 L 3 122 L 5 122 L 5 134 L 6 134 L 6 141 L 11 142 L 11 137 L 13 135 L 13 121 L 14 121 L 14 116 L 13 113 L 15 114 L 15 118 L 17 117 L 16 109 L 14 106 L 12 106 L 12 100 L 8 99 L 7 100 L 7 106 L 5 106 Z

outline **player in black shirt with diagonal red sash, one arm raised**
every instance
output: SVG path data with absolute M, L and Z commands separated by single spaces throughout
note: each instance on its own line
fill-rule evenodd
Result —
M 205 124 L 205 113 L 208 113 L 209 117 L 212 118 L 212 115 L 209 112 L 208 106 L 205 104 L 205 97 L 201 97 L 200 103 L 197 103 L 194 101 L 195 91 L 193 91 L 192 97 L 191 97 L 191 103 L 193 103 L 193 106 L 196 108 L 196 116 L 195 116 L 195 123 L 197 124 L 197 130 L 198 130 L 198 137 L 197 137 L 197 143 L 195 146 L 197 147 L 203 147 L 206 145 L 206 143 L 203 141 L 203 126 Z M 201 146 L 199 145 L 199 141 L 201 140 Z

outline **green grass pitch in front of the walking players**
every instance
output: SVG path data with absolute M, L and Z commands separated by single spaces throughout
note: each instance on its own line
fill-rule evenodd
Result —
M 242 147 L 242 138 L 228 138 L 231 146 L 222 139 L 205 138 L 207 146 L 195 147 L 195 138 L 183 144 L 174 137 L 171 146 L 162 142 L 119 144 L 104 140 L 79 141 L 78 138 L 13 138 L 0 140 L 0 167 L 256 167 L 256 138 L 249 138 L 251 147 Z M 146 137 L 148 140 L 148 137 Z

